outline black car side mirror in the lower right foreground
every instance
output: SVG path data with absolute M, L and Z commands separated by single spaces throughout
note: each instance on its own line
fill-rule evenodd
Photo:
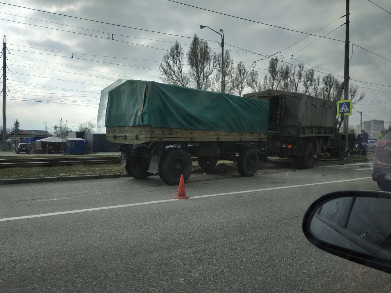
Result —
M 316 247 L 391 273 L 391 193 L 339 191 L 313 202 L 303 218 Z

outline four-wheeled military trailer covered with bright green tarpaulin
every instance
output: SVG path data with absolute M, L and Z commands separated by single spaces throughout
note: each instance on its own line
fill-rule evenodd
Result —
M 253 176 L 267 142 L 269 102 L 262 99 L 121 80 L 102 90 L 99 121 L 103 113 L 106 138 L 119 144 L 127 173 L 145 179 L 158 171 L 168 185 L 190 177 L 190 155 L 205 172 L 223 159 Z

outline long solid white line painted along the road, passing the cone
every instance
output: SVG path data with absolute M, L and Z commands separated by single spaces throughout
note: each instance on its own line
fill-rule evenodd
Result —
M 328 181 L 328 182 L 317 182 L 317 183 L 308 183 L 308 184 L 291 185 L 291 186 L 280 186 L 280 187 L 271 187 L 271 188 L 251 189 L 251 190 L 215 193 L 215 194 L 208 194 L 208 195 L 197 195 L 197 196 L 194 196 L 194 197 L 191 197 L 191 198 L 194 199 L 194 198 L 204 198 L 204 197 L 216 197 L 218 195 L 231 195 L 231 194 L 237 194 L 237 193 L 249 193 L 249 192 L 267 191 L 267 190 L 275 190 L 275 189 L 296 188 L 296 187 L 303 187 L 303 186 L 314 186 L 314 185 L 329 184 L 329 183 L 349 182 L 349 181 L 364 180 L 364 179 L 372 179 L 372 177 L 362 177 L 362 178 L 335 180 L 335 181 Z M 176 200 L 177 199 L 170 198 L 170 199 L 165 199 L 165 200 L 155 200 L 155 201 L 152 201 L 152 202 L 139 202 L 139 203 L 136 203 L 136 204 L 111 205 L 109 207 L 94 207 L 94 208 L 91 208 L 91 209 L 78 209 L 78 210 L 74 210 L 74 211 L 64 211 L 64 212 L 57 212 L 57 213 L 34 214 L 34 215 L 30 215 L 30 216 L 2 218 L 2 219 L 0 219 L 0 222 L 13 221 L 13 220 L 22 220 L 22 219 L 30 219 L 30 218 L 41 218 L 41 217 L 47 217 L 47 216 L 56 216 L 56 215 L 59 215 L 59 214 L 74 214 L 74 213 L 83 213 L 83 212 L 91 212 L 91 211 L 100 211 L 100 210 L 104 210 L 104 209 L 118 209 L 120 207 L 134 207 L 136 205 L 158 204 L 160 202 L 172 202 L 172 201 L 176 201 Z

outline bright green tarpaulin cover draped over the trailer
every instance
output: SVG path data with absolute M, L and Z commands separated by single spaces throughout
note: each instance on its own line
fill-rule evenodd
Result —
M 262 100 L 127 80 L 109 91 L 105 126 L 266 133 L 268 115 L 269 102 Z

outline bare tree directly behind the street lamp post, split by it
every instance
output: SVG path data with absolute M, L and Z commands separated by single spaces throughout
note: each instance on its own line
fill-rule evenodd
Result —
M 215 91 L 221 92 L 221 53 L 215 55 L 216 62 L 216 71 L 214 75 L 214 80 L 212 82 L 212 88 Z M 234 83 L 234 67 L 233 67 L 233 57 L 230 54 L 229 50 L 225 50 L 224 52 L 224 89 L 225 93 L 233 94 L 236 90 L 236 86 Z

